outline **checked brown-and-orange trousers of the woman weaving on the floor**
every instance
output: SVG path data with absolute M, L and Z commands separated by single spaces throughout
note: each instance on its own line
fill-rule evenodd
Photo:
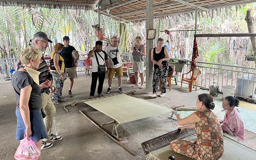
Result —
M 174 152 L 194 158 L 197 160 L 217 160 L 220 159 L 223 153 L 204 154 L 200 150 L 200 146 L 186 140 L 173 140 L 170 147 Z

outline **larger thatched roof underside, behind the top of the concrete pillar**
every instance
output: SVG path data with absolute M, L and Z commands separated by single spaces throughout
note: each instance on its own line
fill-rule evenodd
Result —
M 202 12 L 253 2 L 256 0 L 154 0 L 154 18 L 195 12 L 196 6 L 198 6 L 198 12 Z M 99 3 L 100 13 L 115 20 L 141 21 L 146 19 L 146 0 L 101 0 Z M 107 10 L 109 10 L 108 13 Z

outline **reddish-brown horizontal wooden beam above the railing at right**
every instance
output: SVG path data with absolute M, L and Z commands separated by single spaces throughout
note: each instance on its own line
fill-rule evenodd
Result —
M 256 33 L 195 34 L 195 37 L 250 37 Z

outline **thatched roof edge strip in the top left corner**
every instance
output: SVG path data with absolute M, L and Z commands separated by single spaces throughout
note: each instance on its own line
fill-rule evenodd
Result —
M 98 0 L 0 0 L 2 6 L 43 7 L 58 9 L 94 9 Z

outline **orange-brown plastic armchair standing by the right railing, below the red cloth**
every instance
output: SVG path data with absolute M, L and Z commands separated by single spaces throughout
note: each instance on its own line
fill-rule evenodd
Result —
M 191 71 L 192 71 L 191 77 L 184 78 L 184 75 L 187 75 Z M 180 88 L 182 88 L 182 81 L 186 81 L 186 82 L 188 82 L 189 92 L 192 92 L 192 85 L 194 84 L 194 82 L 196 83 L 196 78 L 201 75 L 201 71 L 197 68 L 194 68 L 192 70 L 189 70 L 188 73 L 182 73 Z M 195 85 L 193 85 L 193 88 L 195 88 Z

